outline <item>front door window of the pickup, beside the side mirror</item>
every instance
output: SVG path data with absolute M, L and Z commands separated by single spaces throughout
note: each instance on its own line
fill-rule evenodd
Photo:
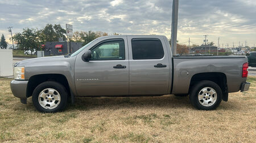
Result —
M 125 42 L 110 41 L 104 42 L 92 49 L 90 60 L 121 60 L 125 59 Z

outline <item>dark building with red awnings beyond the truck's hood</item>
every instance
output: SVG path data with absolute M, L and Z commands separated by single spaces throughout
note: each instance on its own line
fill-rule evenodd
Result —
M 49 55 L 66 55 L 68 54 L 68 45 L 70 43 L 63 42 L 46 42 L 42 45 L 45 56 Z M 82 42 L 71 42 L 71 53 L 79 50 L 82 47 Z

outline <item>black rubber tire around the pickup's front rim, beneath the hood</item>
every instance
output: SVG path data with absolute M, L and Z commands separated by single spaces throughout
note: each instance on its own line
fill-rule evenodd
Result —
M 56 105 L 56 107 L 54 109 L 45 109 L 39 103 L 39 94 L 44 89 L 47 89 L 47 88 L 55 89 L 59 93 L 58 95 L 60 96 L 60 101 L 59 101 L 59 104 Z M 34 92 L 32 93 L 32 102 L 33 102 L 35 108 L 40 112 L 59 112 L 59 111 L 62 111 L 67 106 L 67 101 L 68 101 L 67 89 L 65 89 L 65 87 L 62 84 L 57 83 L 56 81 L 46 81 L 44 83 L 41 83 L 38 86 L 36 86 L 36 88 L 34 89 Z

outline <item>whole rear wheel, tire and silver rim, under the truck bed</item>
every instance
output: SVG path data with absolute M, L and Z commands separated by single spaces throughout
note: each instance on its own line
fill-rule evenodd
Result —
M 214 110 L 222 100 L 222 91 L 213 81 L 200 81 L 191 88 L 189 93 L 191 104 L 199 110 Z

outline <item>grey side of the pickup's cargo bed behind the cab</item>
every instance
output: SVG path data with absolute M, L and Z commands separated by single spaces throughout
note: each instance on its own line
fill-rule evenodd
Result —
M 199 79 L 204 74 L 208 78 L 224 74 L 229 93 L 238 92 L 241 83 L 246 81 L 246 77 L 242 77 L 242 65 L 247 62 L 245 56 L 174 56 L 172 62 L 172 94 L 187 94 L 191 80 Z

